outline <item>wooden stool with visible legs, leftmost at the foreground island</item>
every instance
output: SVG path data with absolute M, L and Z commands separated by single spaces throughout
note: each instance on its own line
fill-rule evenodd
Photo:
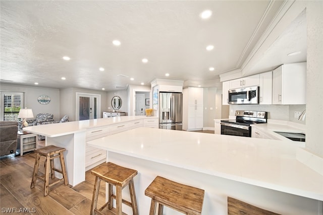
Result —
M 104 165 L 100 165 L 94 168 L 91 171 L 91 174 L 95 176 L 92 204 L 91 204 L 91 212 L 90 214 L 94 214 L 94 211 L 99 214 L 104 214 L 101 212 L 103 208 L 108 206 L 109 210 L 113 209 L 113 199 L 116 199 L 116 214 L 122 214 L 122 203 L 132 207 L 132 211 L 134 215 L 138 215 L 138 207 L 137 200 L 135 194 L 135 187 L 133 184 L 133 177 L 137 175 L 136 170 L 128 169 L 125 167 L 118 166 L 114 163 L 108 162 Z M 100 189 L 100 182 L 104 181 L 109 183 L 109 199 L 108 201 L 100 208 L 97 209 L 97 197 Z M 122 189 L 129 185 L 130 190 L 130 198 L 131 202 L 122 198 Z M 116 186 L 116 195 L 113 194 L 112 186 Z

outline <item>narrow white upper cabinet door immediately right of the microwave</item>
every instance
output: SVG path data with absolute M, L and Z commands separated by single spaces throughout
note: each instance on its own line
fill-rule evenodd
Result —
M 259 74 L 259 104 L 271 105 L 273 94 L 273 71 Z

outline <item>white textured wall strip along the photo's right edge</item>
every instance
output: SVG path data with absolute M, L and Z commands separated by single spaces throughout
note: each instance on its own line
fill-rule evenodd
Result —
M 306 3 L 306 149 L 323 159 L 323 1 Z

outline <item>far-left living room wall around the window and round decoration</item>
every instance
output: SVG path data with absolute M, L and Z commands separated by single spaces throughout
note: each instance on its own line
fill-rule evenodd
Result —
M 51 113 L 54 115 L 54 120 L 61 120 L 60 114 L 60 90 L 40 87 L 27 87 L 22 85 L 1 84 L 0 91 L 7 92 L 21 92 L 24 93 L 24 106 L 31 108 L 34 118 L 38 113 Z M 47 95 L 50 97 L 49 104 L 39 104 L 37 98 L 40 95 Z

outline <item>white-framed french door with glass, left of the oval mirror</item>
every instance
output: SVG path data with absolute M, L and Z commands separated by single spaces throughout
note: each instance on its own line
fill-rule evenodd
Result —
M 100 118 L 101 95 L 76 93 L 76 121 Z

